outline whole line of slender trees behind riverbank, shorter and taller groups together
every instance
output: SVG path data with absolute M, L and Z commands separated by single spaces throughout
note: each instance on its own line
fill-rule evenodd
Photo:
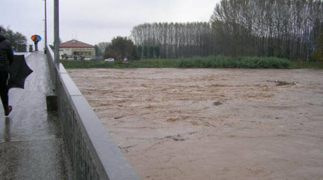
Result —
M 321 0 L 221 0 L 209 22 L 144 23 L 136 45 L 159 46 L 161 58 L 276 56 L 310 60 L 323 33 Z

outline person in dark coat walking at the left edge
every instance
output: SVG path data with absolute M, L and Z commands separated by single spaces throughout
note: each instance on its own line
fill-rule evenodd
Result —
M 12 106 L 8 105 L 8 81 L 9 67 L 13 63 L 13 59 L 12 46 L 6 37 L 1 34 L 0 27 L 0 95 L 5 116 L 12 111 Z

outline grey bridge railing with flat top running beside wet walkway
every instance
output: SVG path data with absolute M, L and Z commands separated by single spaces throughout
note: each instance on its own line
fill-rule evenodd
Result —
M 49 46 L 47 60 L 74 180 L 139 180 Z

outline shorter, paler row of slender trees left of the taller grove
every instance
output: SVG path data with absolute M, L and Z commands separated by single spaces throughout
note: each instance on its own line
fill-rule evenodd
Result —
M 159 47 L 161 58 L 211 55 L 211 34 L 208 22 L 144 23 L 131 31 L 136 45 Z

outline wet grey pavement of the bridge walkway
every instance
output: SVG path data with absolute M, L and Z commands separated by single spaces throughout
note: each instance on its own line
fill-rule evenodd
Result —
M 25 89 L 11 89 L 8 117 L 0 110 L 0 180 L 68 180 L 69 163 L 57 114 L 46 112 L 53 93 L 46 55 L 26 54 L 33 73 Z M 2 106 L 1 106 L 2 107 Z

